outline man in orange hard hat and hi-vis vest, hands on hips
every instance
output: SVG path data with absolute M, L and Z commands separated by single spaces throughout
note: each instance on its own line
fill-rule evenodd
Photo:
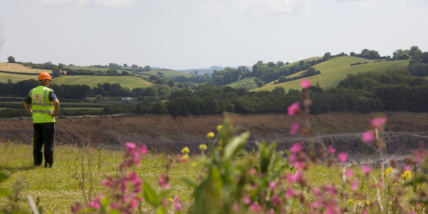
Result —
M 22 102 L 28 113 L 33 116 L 34 165 L 42 165 L 42 146 L 45 144 L 45 167 L 52 167 L 55 117 L 58 115 L 59 101 L 53 90 L 48 88 L 52 80 L 48 72 L 40 73 L 37 80 L 40 81 L 40 86 L 31 89 Z

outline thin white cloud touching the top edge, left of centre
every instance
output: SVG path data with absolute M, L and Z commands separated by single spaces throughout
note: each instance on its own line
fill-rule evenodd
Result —
M 42 3 L 56 6 L 95 6 L 121 8 L 132 5 L 133 0 L 42 0 Z

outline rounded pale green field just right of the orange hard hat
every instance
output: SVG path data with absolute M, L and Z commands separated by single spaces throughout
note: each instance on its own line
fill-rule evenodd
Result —
M 122 87 L 126 86 L 129 89 L 134 89 L 138 87 L 149 87 L 153 85 L 146 80 L 143 80 L 139 77 L 133 76 L 68 76 L 63 75 L 61 77 L 56 77 L 52 80 L 51 84 L 86 84 L 88 86 L 94 87 L 97 86 L 98 83 L 119 83 Z

